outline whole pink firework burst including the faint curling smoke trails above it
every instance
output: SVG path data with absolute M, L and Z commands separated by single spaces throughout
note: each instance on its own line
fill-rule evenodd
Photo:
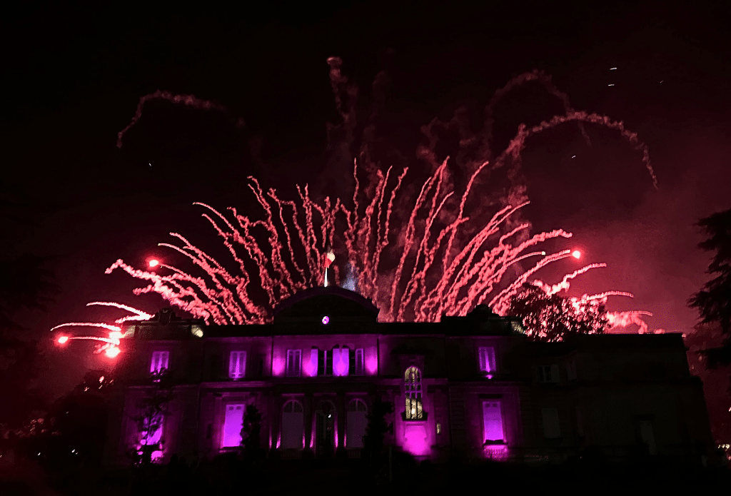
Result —
M 357 88 L 341 72 L 339 58 L 328 59 L 328 64 L 336 109 L 342 119 L 341 124 L 328 126 L 328 138 L 335 140 L 339 136 L 341 140 L 330 142 L 328 148 L 348 150 L 354 142 Z M 379 74 L 374 91 L 382 91 L 385 80 Z M 507 148 L 493 153 L 496 104 L 514 88 L 534 83 L 561 101 L 565 115 L 556 115 L 535 126 L 519 126 Z M 132 122 L 119 133 L 118 146 L 124 133 L 140 118 L 144 103 L 156 98 L 227 112 L 221 105 L 192 95 L 158 91 L 140 99 Z M 378 105 L 371 121 L 382 110 L 382 100 L 377 94 Z M 135 289 L 135 294 L 157 293 L 208 324 L 268 322 L 282 299 L 300 289 L 321 286 L 327 283 L 326 278 L 341 283 L 343 270 L 349 275 L 349 285 L 355 283 L 357 291 L 379 306 L 383 321 L 438 321 L 445 314 L 464 315 L 483 303 L 504 313 L 510 299 L 543 267 L 561 261 L 571 263 L 581 256 L 571 249 L 547 255 L 537 248 L 539 243 L 569 238 L 572 234 L 556 229 L 531 236 L 530 223 L 520 218 L 520 209 L 527 204 L 520 172 L 521 154 L 531 136 L 577 122 L 588 142 L 586 124 L 614 129 L 643 153 L 643 164 L 653 185 L 657 185 L 648 148 L 637 134 L 620 121 L 573 109 L 567 95 L 558 91 L 542 72 L 519 75 L 496 91 L 485 107 L 481 134 L 471 131 L 464 121 L 455 112 L 452 121 L 435 119 L 423 127 L 428 145 L 420 146 L 417 156 L 428 164 L 427 172 L 431 171 L 425 178 L 423 167 L 389 167 L 385 172 L 379 169 L 370 159 L 369 140 L 376 140 L 376 133 L 374 122 L 368 122 L 360 159 L 356 161 L 359 165 L 353 169 L 352 199 L 319 199 L 311 195 L 308 186 L 298 186 L 295 199 L 287 199 L 249 178 L 251 194 L 260 207 L 258 212 L 245 215 L 234 207 L 221 211 L 196 204 L 205 209 L 203 217 L 224 243 L 230 260 L 216 260 L 183 235 L 170 233 L 177 243 L 161 245 L 185 256 L 193 270 L 159 261 L 149 264 L 155 271 L 142 270 L 118 260 L 107 273 L 121 268 L 145 282 Z M 457 150 L 454 162 L 469 177 L 464 186 L 455 184 L 447 167 L 450 159 L 438 159 L 434 151 L 439 133 L 444 130 L 457 131 L 460 137 L 461 149 Z M 485 186 L 489 186 L 491 175 L 500 170 L 507 173 L 510 187 L 499 197 L 490 196 L 491 190 L 486 195 Z M 409 175 L 413 177 L 406 180 Z M 421 187 L 412 193 L 407 187 L 409 183 L 419 183 Z M 596 267 L 603 264 L 575 270 L 556 285 L 536 283 L 547 293 L 563 291 L 568 289 L 569 280 Z M 575 302 L 584 305 L 618 295 L 631 296 L 607 291 L 584 295 Z M 134 315 L 117 322 L 149 318 L 138 310 L 130 311 Z M 639 324 L 646 330 L 643 315 L 648 313 L 611 314 L 610 324 Z

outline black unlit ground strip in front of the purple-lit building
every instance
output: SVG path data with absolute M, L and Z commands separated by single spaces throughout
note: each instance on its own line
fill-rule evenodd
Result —
M 724 494 L 731 484 L 725 468 L 702 468 L 647 459 L 632 465 L 575 460 L 564 465 L 418 464 L 395 457 L 393 482 L 387 467 L 370 470 L 360 460 L 269 461 L 250 468 L 235 457 L 190 466 L 151 470 L 66 470 L 45 473 L 23 462 L 0 468 L 0 494 L 15 495 L 291 495 L 346 492 L 350 495 L 442 495 L 454 490 L 542 495 Z

